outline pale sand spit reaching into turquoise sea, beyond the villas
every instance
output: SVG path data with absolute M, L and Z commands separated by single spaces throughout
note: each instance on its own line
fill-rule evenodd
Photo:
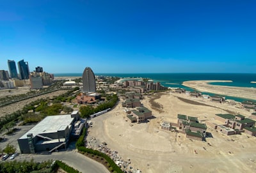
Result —
M 183 82 L 182 85 L 194 88 L 202 92 L 256 100 L 256 88 L 216 86 L 216 85 L 208 84 L 209 82 L 232 82 L 232 81 L 230 80 L 191 80 L 191 81 Z

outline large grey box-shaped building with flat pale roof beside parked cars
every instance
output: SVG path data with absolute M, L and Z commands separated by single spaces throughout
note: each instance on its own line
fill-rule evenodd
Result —
M 36 153 L 68 146 L 74 124 L 79 119 L 78 112 L 60 116 L 47 116 L 18 139 L 20 153 Z M 78 125 L 79 126 L 79 125 Z

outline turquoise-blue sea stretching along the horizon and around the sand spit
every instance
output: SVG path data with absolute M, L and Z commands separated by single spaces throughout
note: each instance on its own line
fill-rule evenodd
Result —
M 256 73 L 95 73 L 95 75 L 109 76 L 109 77 L 142 77 L 160 82 L 165 87 L 183 87 L 188 91 L 193 89 L 182 86 L 182 82 L 188 80 L 232 80 L 232 82 L 212 82 L 212 85 L 220 86 L 237 86 L 237 87 L 255 87 Z M 55 73 L 55 77 L 82 77 L 82 73 Z M 212 96 L 214 93 L 203 93 Z M 227 99 L 243 102 L 244 98 L 236 98 L 232 96 L 225 96 Z

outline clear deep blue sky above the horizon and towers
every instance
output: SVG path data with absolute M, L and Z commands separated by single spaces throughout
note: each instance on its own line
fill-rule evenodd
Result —
M 256 73 L 256 1 L 0 0 L 0 70 Z

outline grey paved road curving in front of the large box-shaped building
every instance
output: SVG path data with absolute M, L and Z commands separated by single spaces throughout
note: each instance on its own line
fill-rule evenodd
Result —
M 108 169 L 106 169 L 104 165 L 83 156 L 83 154 L 77 153 L 75 150 L 61 151 L 52 154 L 21 154 L 20 156 L 17 156 L 15 160 L 31 160 L 32 158 L 35 160 L 35 162 L 42 162 L 45 160 L 61 160 L 62 162 L 67 163 L 67 165 L 70 167 L 73 167 L 74 169 L 77 169 L 83 173 L 109 173 Z

